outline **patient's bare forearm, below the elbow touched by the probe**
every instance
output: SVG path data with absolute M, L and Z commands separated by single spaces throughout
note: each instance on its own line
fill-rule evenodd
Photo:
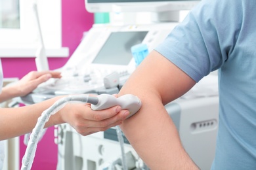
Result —
M 161 103 L 142 99 L 142 108 L 121 125 L 150 169 L 197 169 L 184 151 L 175 125 Z

